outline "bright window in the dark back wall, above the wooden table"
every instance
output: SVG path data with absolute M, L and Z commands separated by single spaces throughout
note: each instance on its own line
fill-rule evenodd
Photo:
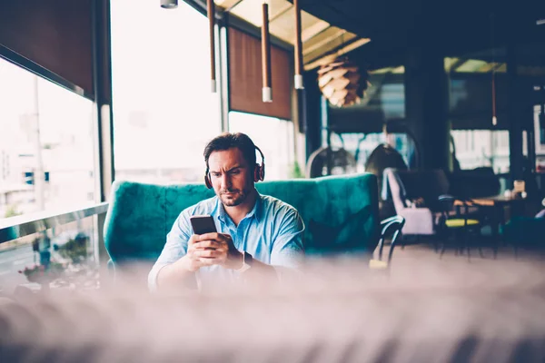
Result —
M 461 169 L 492 167 L 509 172 L 509 132 L 490 130 L 452 130 L 456 158 Z

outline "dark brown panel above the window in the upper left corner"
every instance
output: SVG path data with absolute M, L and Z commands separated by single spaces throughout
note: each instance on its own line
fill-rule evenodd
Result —
M 94 94 L 93 0 L 2 0 L 0 44 Z

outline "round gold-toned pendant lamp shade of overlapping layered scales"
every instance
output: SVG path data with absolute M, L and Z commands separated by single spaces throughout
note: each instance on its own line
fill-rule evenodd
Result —
M 334 106 L 351 106 L 362 100 L 369 86 L 369 76 L 348 58 L 342 57 L 320 67 L 318 86 Z

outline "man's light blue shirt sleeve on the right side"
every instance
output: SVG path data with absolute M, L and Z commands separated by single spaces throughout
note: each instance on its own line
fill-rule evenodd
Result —
M 302 264 L 304 223 L 299 213 L 288 210 L 281 219 L 278 234 L 272 244 L 271 265 L 297 269 Z

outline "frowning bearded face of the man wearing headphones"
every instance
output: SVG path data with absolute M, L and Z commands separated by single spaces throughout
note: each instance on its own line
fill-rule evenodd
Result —
M 237 206 L 253 191 L 253 168 L 238 148 L 212 152 L 208 166 L 213 191 L 223 205 Z

